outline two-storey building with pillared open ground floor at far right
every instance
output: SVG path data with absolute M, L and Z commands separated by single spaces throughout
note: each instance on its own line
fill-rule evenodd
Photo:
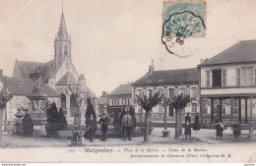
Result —
M 239 41 L 198 65 L 204 121 L 248 122 L 255 118 L 256 40 Z

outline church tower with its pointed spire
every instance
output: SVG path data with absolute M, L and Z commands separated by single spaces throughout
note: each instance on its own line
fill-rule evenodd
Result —
M 71 37 L 67 32 L 64 14 L 62 10 L 59 30 L 54 40 L 55 70 L 59 68 L 65 57 L 71 58 Z

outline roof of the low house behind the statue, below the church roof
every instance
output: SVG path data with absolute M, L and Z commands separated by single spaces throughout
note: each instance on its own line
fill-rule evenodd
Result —
M 14 95 L 28 95 L 32 93 L 34 83 L 31 79 L 6 78 L 7 89 Z M 60 95 L 45 83 L 41 83 L 42 93 L 49 97 L 59 97 Z

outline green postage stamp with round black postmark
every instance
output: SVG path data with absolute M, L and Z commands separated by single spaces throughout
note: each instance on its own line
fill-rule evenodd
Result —
M 205 42 L 205 2 L 163 2 L 161 42 L 180 58 L 198 53 Z

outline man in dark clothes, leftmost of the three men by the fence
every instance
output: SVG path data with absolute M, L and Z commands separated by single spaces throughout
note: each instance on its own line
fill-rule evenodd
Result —
M 86 124 L 87 124 L 87 127 L 86 127 L 85 139 L 86 139 L 86 136 L 88 136 L 90 141 L 94 141 L 93 139 L 96 133 L 96 117 L 93 114 L 91 114 L 90 118 L 86 120 Z

